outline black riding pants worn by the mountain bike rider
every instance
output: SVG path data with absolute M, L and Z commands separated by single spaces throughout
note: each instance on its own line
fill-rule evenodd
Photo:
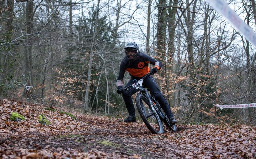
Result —
M 134 83 L 132 80 L 134 80 L 134 78 L 131 78 L 125 87 L 132 85 Z M 139 80 L 139 79 L 136 79 L 136 80 Z M 171 112 L 169 104 L 167 103 L 166 99 L 164 98 L 162 92 L 160 91 L 159 87 L 155 83 L 155 80 L 153 79 L 152 76 L 149 76 L 145 80 L 143 80 L 143 86 L 147 87 L 148 90 L 150 91 L 150 94 L 155 97 L 157 102 L 159 102 L 163 111 L 166 113 L 167 117 L 169 118 L 173 117 L 173 113 Z M 130 116 L 135 116 L 135 108 L 132 102 L 132 94 L 136 92 L 137 92 L 136 89 L 132 88 L 129 91 L 125 91 L 122 94 L 126 108 Z

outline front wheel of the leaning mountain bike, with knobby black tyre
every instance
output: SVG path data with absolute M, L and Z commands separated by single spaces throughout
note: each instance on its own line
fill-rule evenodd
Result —
M 162 122 L 155 109 L 151 108 L 147 98 L 144 95 L 139 94 L 136 96 L 136 107 L 143 122 L 153 134 L 163 133 Z

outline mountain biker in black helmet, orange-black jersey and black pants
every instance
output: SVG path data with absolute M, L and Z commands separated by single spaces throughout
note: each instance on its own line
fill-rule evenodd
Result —
M 141 77 L 145 76 L 147 73 L 154 75 L 158 70 L 162 67 L 162 62 L 157 61 L 152 57 L 149 57 L 147 54 L 144 54 L 139 51 L 139 46 L 135 42 L 127 43 L 124 47 L 126 56 L 122 60 L 119 69 L 119 76 L 117 79 L 117 93 L 122 94 L 126 108 L 128 110 L 129 116 L 127 119 L 124 120 L 126 123 L 136 122 L 135 117 L 135 108 L 132 102 L 132 94 L 136 93 L 135 88 L 131 88 L 128 91 L 123 92 L 123 78 L 124 73 L 127 71 L 131 76 L 131 79 L 126 84 L 125 87 L 132 85 L 134 82 L 133 80 L 140 80 Z M 149 70 L 148 63 L 155 65 L 154 68 Z M 155 83 L 155 80 L 152 76 L 147 77 L 143 80 L 143 86 L 147 87 L 150 91 L 150 94 L 155 97 L 155 99 L 161 105 L 161 108 L 166 113 L 167 117 L 170 120 L 171 124 L 177 122 L 173 118 L 173 113 L 171 112 L 170 106 L 166 101 L 166 98 L 163 96 L 162 92 L 160 91 L 159 87 Z

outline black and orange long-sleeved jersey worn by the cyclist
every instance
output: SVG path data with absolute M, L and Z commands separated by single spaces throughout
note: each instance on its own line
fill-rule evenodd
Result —
M 128 61 L 128 57 L 125 56 L 121 62 L 117 80 L 122 81 L 126 71 L 135 79 L 143 77 L 150 71 L 148 68 L 148 63 L 155 65 L 155 62 L 157 62 L 157 60 L 142 52 L 139 53 L 137 59 L 134 62 Z M 159 69 L 158 66 L 157 69 Z

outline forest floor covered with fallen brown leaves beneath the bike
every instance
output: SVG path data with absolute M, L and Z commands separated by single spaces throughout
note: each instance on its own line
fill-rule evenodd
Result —
M 11 121 L 11 112 L 25 121 Z M 43 114 L 51 122 L 40 124 Z M 152 134 L 143 124 L 74 114 L 45 106 L 0 100 L 0 158 L 256 158 L 255 127 L 177 125 L 177 131 Z

